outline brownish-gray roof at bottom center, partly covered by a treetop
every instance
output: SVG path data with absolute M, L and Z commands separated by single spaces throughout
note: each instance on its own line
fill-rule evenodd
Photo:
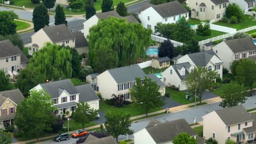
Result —
M 175 136 L 179 133 L 188 133 L 191 136 L 195 136 L 196 133 L 190 127 L 185 119 L 178 119 L 176 121 L 165 122 L 156 124 L 153 127 L 146 128 L 150 136 L 153 138 L 155 143 L 164 143 L 172 141 Z

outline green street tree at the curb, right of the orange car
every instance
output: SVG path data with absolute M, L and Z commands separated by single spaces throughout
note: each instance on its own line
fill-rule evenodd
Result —
M 121 109 L 112 109 L 105 115 L 106 132 L 112 135 L 118 142 L 119 135 L 133 134 L 131 127 L 131 114 L 125 113 Z

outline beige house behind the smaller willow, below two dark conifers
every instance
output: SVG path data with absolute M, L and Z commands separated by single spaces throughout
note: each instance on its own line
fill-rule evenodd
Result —
M 88 43 L 82 32 L 71 32 L 65 24 L 57 26 L 44 26 L 31 36 L 32 46 L 29 48 L 30 55 L 40 50 L 46 43 L 64 45 L 77 48 L 80 54 L 88 51 Z

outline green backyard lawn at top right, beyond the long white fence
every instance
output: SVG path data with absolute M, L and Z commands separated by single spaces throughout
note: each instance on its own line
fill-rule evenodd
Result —
M 247 27 L 252 27 L 256 25 L 256 21 L 252 21 L 252 19 L 249 19 L 249 15 L 243 15 L 243 19 L 239 23 L 223 23 L 223 22 L 215 22 L 213 23 L 214 25 L 220 25 L 220 26 L 225 26 L 225 27 L 231 27 L 231 28 L 236 28 L 237 31 L 247 28 Z

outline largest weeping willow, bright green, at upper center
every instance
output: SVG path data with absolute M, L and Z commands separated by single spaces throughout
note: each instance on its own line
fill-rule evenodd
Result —
M 150 29 L 143 28 L 140 23 L 127 23 L 125 19 L 115 17 L 99 20 L 89 32 L 88 64 L 92 67 L 97 67 L 96 51 L 102 47 L 112 51 L 114 67 L 122 67 L 146 56 L 146 49 L 152 43 Z

